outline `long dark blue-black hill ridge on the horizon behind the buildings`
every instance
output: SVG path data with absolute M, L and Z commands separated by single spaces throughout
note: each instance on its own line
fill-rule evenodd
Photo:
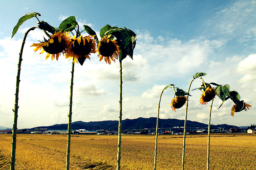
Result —
M 131 130 L 131 129 L 152 129 L 156 128 L 157 118 L 137 118 L 137 119 L 125 119 L 122 120 L 122 130 Z M 184 120 L 179 119 L 159 119 L 159 128 L 173 128 L 173 127 L 182 127 L 184 126 Z M 234 128 L 237 126 L 233 125 L 212 125 L 214 128 Z M 187 120 L 187 128 L 206 128 L 208 124 L 195 122 Z M 36 128 L 47 128 L 48 130 L 66 130 L 68 129 L 68 123 L 65 124 L 56 124 L 52 126 L 40 126 Z M 118 130 L 118 121 L 117 120 L 105 120 L 98 122 L 72 122 L 71 128 L 73 130 L 77 129 L 86 129 L 86 130 L 100 130 L 106 129 L 111 131 Z M 32 128 L 33 129 L 33 128 Z

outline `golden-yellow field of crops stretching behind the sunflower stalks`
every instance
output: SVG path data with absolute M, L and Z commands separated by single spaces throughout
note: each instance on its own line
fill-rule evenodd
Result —
M 152 170 L 154 137 L 123 135 L 121 169 Z M 210 169 L 254 170 L 255 141 L 256 135 L 211 135 Z M 66 142 L 66 135 L 17 135 L 16 170 L 64 170 Z M 11 143 L 12 135 L 0 135 L 0 156 L 5 156 L 8 160 L 10 160 Z M 182 143 L 181 135 L 159 136 L 157 169 L 181 169 Z M 116 169 L 116 145 L 115 135 L 73 135 L 70 169 Z M 207 135 L 187 135 L 185 169 L 206 169 L 206 152 Z M 0 159 L 0 162 L 1 160 L 3 159 Z

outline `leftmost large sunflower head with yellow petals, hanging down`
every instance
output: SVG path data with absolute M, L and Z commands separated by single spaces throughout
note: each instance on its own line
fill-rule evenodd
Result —
M 35 52 L 37 50 L 43 49 L 40 54 L 47 52 L 46 59 L 51 56 L 53 60 L 56 54 L 56 59 L 58 60 L 60 53 L 66 50 L 71 43 L 70 37 L 68 37 L 68 33 L 69 32 L 61 33 L 61 30 L 58 33 L 55 31 L 49 40 L 44 38 L 44 41 L 39 41 L 40 43 L 33 43 L 30 47 L 36 47 L 34 49 Z

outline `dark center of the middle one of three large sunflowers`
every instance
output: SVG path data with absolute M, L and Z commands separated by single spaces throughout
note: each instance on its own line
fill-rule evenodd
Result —
M 74 42 L 74 46 L 71 46 L 71 49 L 73 52 L 75 52 L 78 55 L 87 55 L 89 54 L 89 52 L 92 50 L 92 41 L 90 40 L 89 43 L 87 40 L 85 40 L 85 45 L 83 45 L 83 38 L 80 42 L 80 44 L 78 43 L 77 40 L 75 40 Z

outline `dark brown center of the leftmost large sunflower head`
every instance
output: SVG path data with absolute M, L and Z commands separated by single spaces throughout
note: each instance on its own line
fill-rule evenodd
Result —
M 48 52 L 49 54 L 58 54 L 60 52 L 62 52 L 63 50 L 65 50 L 66 44 L 64 40 L 61 40 L 59 42 L 59 38 L 58 37 L 54 37 L 53 38 L 53 43 L 48 43 L 48 47 L 47 46 L 43 46 L 43 49 Z

